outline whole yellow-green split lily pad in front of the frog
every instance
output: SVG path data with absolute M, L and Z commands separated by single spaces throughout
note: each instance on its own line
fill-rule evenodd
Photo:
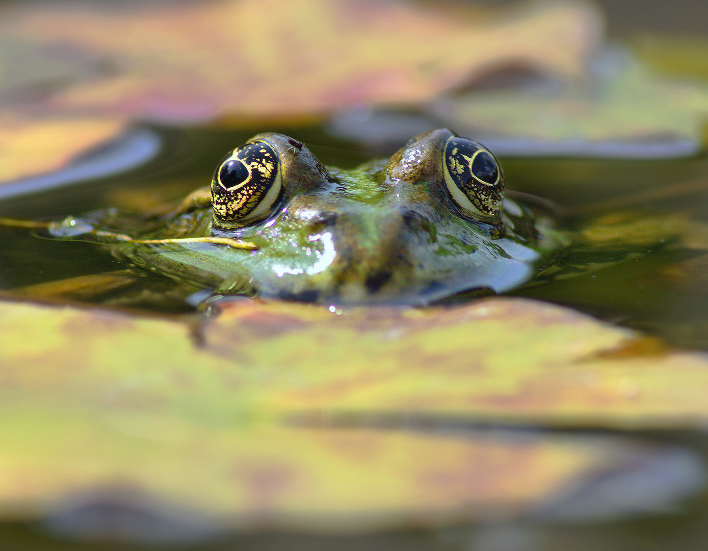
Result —
M 160 319 L 2 303 L 0 329 L 0 514 L 50 516 L 69 533 L 83 525 L 67 504 L 86 511 L 111 495 L 186 511 L 210 533 L 552 516 L 559 500 L 597 508 L 598 477 L 665 461 L 687 478 L 652 486 L 658 501 L 702 484 L 697 460 L 622 438 L 338 423 L 338 411 L 400 414 L 409 427 L 422 413 L 443 424 L 704 422 L 702 356 L 647 354 L 629 331 L 532 301 L 348 312 L 241 301 L 201 336 Z

